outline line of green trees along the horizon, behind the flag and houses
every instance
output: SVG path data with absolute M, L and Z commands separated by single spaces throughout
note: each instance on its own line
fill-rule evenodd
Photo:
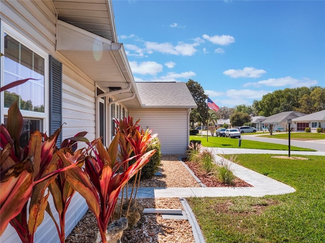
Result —
M 252 105 L 240 104 L 233 108 L 222 106 L 218 111 L 214 111 L 208 108 L 208 96 L 198 82 L 189 79 L 186 85 L 198 105 L 198 108 L 192 109 L 190 113 L 191 128 L 194 128 L 196 123 L 209 126 L 216 123 L 216 119 L 230 119 L 231 125 L 235 127 L 248 125 L 252 116 L 267 117 L 284 111 L 311 114 L 325 109 L 325 88 L 319 86 L 276 90 L 264 95 L 259 101 L 254 100 Z

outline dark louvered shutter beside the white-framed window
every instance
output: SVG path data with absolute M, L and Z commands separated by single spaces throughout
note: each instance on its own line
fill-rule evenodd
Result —
M 49 78 L 49 95 L 50 95 L 50 131 L 52 135 L 62 124 L 62 63 L 50 56 L 50 78 Z M 62 142 L 62 133 L 60 133 L 56 146 L 60 147 Z

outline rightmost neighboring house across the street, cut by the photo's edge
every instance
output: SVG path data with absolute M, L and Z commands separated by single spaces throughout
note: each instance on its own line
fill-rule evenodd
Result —
M 303 132 L 305 128 L 310 128 L 312 133 L 316 133 L 317 128 L 325 129 L 325 110 L 297 117 L 292 121 L 297 128 L 297 132 Z

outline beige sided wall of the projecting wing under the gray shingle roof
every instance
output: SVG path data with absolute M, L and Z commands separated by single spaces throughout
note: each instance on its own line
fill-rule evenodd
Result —
M 189 143 L 188 109 L 132 109 L 134 121 L 158 134 L 162 154 L 184 154 Z

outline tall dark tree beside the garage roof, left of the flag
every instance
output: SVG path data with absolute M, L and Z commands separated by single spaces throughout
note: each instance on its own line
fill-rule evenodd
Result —
M 198 108 L 192 109 L 190 114 L 190 123 L 192 124 L 193 128 L 194 123 L 198 121 L 200 123 L 206 123 L 206 119 L 208 116 L 208 106 L 206 103 L 206 99 L 208 98 L 208 96 L 204 94 L 204 89 L 202 88 L 202 86 L 192 79 L 188 80 L 186 86 L 189 92 L 191 92 L 191 95 L 198 106 Z

